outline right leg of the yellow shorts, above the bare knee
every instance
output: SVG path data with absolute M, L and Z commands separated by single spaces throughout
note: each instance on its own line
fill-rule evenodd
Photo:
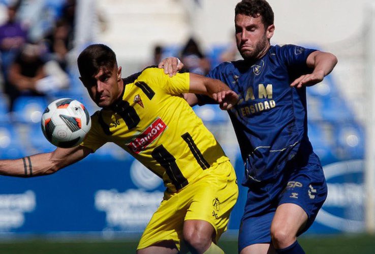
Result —
M 235 171 L 229 162 L 220 163 L 189 185 L 185 193 L 194 195 L 185 220 L 207 221 L 215 230 L 213 241 L 216 242 L 226 231 L 229 214 L 237 201 Z

